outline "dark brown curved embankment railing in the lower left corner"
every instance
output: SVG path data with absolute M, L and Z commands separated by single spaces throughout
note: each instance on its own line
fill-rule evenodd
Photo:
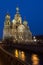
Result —
M 3 65 L 28 65 L 26 62 L 5 51 L 2 47 L 0 47 L 0 60 Z

